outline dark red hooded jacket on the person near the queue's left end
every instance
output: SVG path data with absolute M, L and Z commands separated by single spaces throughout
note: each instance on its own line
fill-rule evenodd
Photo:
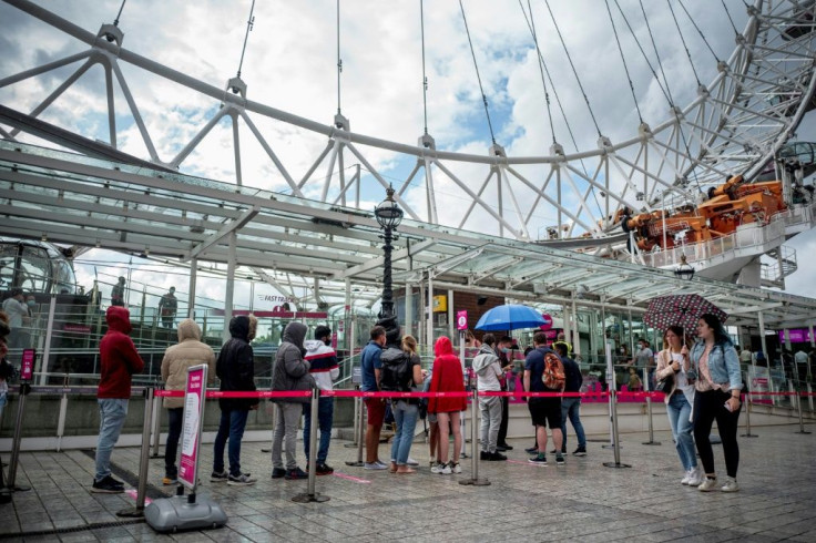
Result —
M 144 361 L 129 336 L 131 313 L 124 307 L 111 306 L 105 320 L 108 331 L 99 342 L 101 377 L 96 398 L 128 400 L 131 397 L 131 376 L 144 369 Z

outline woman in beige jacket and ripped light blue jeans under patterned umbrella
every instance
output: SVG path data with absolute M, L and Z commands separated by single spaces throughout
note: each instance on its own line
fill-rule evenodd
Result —
M 680 481 L 690 486 L 700 486 L 703 470 L 697 465 L 694 453 L 694 437 L 691 414 L 694 406 L 694 379 L 690 378 L 691 360 L 688 348 L 683 340 L 683 328 L 670 326 L 663 334 L 663 350 L 657 355 L 657 380 L 672 379 L 672 388 L 666 392 L 666 414 L 672 427 L 674 445 L 685 475 Z M 691 373 L 694 377 L 694 373 Z

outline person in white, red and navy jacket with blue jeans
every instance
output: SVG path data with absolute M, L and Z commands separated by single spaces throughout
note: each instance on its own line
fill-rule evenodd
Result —
M 306 361 L 309 362 L 309 373 L 315 379 L 315 385 L 320 390 L 332 391 L 334 381 L 340 377 L 340 366 L 337 362 L 337 354 L 332 348 L 332 328 L 320 325 L 315 328 L 315 339 L 304 341 L 306 348 Z M 328 458 L 328 445 L 332 442 L 332 423 L 335 413 L 335 399 L 330 396 L 322 396 L 317 402 L 317 423 L 320 428 L 320 442 L 317 448 L 317 464 L 315 473 L 318 475 L 330 475 L 334 469 L 326 463 Z M 309 443 L 312 434 L 312 409 L 308 403 L 303 406 L 303 448 L 306 453 L 306 470 L 309 465 Z

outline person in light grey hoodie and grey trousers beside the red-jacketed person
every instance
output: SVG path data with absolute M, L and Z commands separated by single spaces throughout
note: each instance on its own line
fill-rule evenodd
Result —
M 503 375 L 499 357 L 493 350 L 496 337 L 487 334 L 482 338 L 479 354 L 473 358 L 473 371 L 478 379 L 479 392 L 500 391 L 499 378 Z M 501 398 L 498 396 L 479 396 L 479 413 L 481 414 L 481 453 L 480 460 L 507 460 L 507 457 L 496 450 L 501 424 Z

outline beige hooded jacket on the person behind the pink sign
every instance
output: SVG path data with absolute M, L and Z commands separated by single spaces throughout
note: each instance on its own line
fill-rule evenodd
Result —
M 201 341 L 201 328 L 193 319 L 178 322 L 178 342 L 164 352 L 162 380 L 166 390 L 184 390 L 187 386 L 187 368 L 207 365 L 207 382 L 215 381 L 215 352 Z M 184 398 L 165 398 L 166 409 L 184 407 Z

